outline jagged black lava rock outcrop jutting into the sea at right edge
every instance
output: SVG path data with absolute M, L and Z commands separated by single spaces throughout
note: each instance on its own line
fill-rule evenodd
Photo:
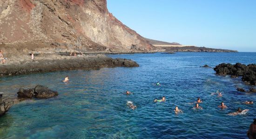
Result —
M 241 64 L 236 63 L 234 65 L 230 63 L 221 63 L 217 65 L 214 70 L 218 75 L 231 75 L 231 76 L 243 76 L 242 80 L 248 82 L 251 85 L 256 85 L 256 64 Z

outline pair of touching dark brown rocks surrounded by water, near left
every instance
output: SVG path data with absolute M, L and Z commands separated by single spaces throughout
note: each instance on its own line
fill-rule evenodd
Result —
M 37 85 L 35 88 L 23 89 L 20 88 L 18 98 L 30 99 L 30 98 L 50 98 L 58 95 L 58 92 L 52 91 L 49 88 Z

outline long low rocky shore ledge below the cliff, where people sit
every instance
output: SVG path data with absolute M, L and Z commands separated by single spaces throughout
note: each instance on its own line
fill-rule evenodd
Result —
M 139 65 L 132 60 L 121 58 L 113 59 L 104 55 L 80 55 L 77 57 L 49 55 L 47 57 L 37 57 L 34 60 L 27 59 L 23 61 L 10 62 L 7 64 L 0 64 L 0 76 L 40 73 L 58 70 L 89 70 L 138 66 Z

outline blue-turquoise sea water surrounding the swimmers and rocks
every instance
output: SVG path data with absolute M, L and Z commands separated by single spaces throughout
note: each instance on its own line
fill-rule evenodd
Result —
M 59 92 L 47 100 L 26 100 L 0 117 L 0 138 L 246 138 L 256 118 L 256 94 L 236 91 L 240 78 L 216 76 L 211 68 L 219 63 L 256 63 L 256 53 L 176 53 L 109 55 L 133 59 L 137 68 L 104 68 L 9 76 L 0 78 L 0 92 L 14 95 L 20 87 L 36 84 Z M 61 80 L 68 75 L 71 82 Z M 153 85 L 161 82 L 162 86 Z M 216 89 L 223 97 L 211 96 Z M 124 95 L 126 90 L 133 95 Z M 166 97 L 166 102 L 154 99 Z M 190 102 L 201 97 L 203 110 Z M 137 109 L 126 106 L 133 101 Z M 221 110 L 220 102 L 228 106 Z M 183 114 L 174 113 L 178 106 Z M 228 116 L 237 107 L 249 109 L 244 115 Z

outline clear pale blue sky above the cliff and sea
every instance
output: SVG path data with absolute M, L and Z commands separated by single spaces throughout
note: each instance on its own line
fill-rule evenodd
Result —
M 141 36 L 210 48 L 256 51 L 256 0 L 107 0 Z

